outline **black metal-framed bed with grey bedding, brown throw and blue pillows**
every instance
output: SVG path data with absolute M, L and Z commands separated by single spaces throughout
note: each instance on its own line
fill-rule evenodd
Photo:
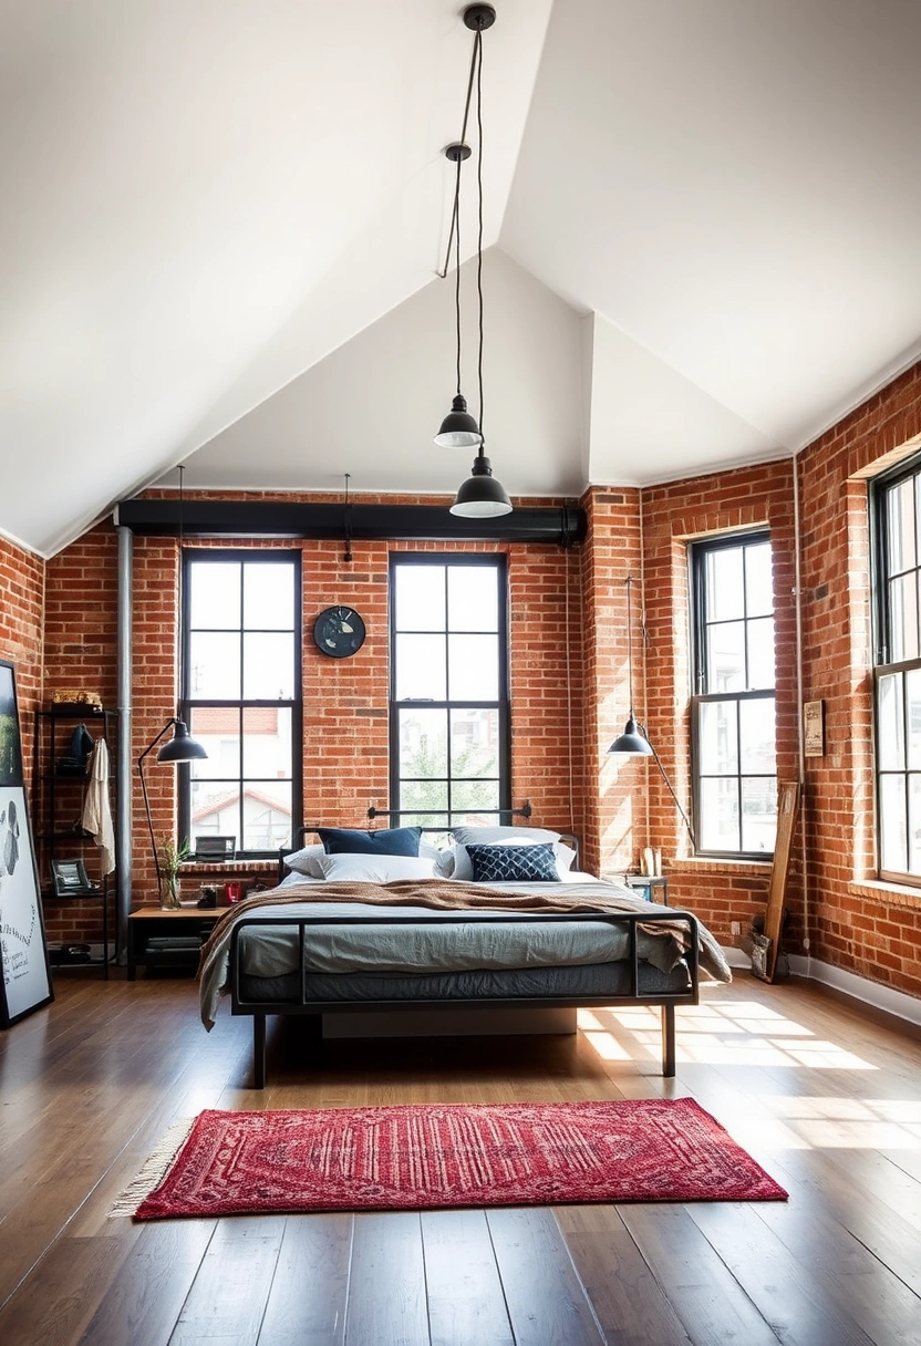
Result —
M 521 1011 L 658 1005 L 673 1075 L 675 1007 L 697 1003 L 702 975 L 731 980 L 691 913 L 580 872 L 561 833 L 455 828 L 432 848 L 420 828 L 315 830 L 319 843 L 283 852 L 277 887 L 224 914 L 202 952 L 202 1022 L 213 1026 L 225 993 L 233 1015 L 252 1016 L 259 1089 L 268 1015 L 319 1024 L 470 1007 L 501 1024 Z

